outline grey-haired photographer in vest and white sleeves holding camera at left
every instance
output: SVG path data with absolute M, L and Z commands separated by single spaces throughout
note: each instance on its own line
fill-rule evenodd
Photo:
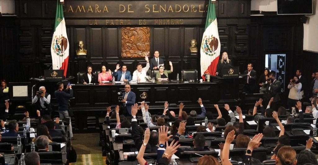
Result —
M 41 111 L 41 114 L 49 115 L 51 117 L 52 107 L 51 107 L 51 95 L 46 93 L 44 86 L 39 88 L 39 91 L 36 93 L 32 100 L 32 104 L 36 104 L 37 109 Z

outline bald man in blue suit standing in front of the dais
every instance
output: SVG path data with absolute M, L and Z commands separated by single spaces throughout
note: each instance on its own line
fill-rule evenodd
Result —
M 124 103 L 123 115 L 131 116 L 131 106 L 135 104 L 136 101 L 136 94 L 130 91 L 130 85 L 125 85 L 125 93 L 122 94 L 124 98 L 121 100 Z

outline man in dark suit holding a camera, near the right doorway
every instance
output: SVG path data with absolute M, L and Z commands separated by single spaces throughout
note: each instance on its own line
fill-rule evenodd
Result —
M 267 79 L 265 84 L 266 91 L 265 91 L 265 94 L 263 95 L 263 100 L 264 100 L 263 105 L 268 105 L 269 100 L 271 100 L 271 98 L 273 97 L 274 100 L 271 104 L 271 108 L 273 110 L 277 110 L 279 106 L 278 102 L 280 101 L 279 93 L 280 93 L 281 82 L 275 78 L 274 73 L 271 73 L 268 77 L 269 78 Z

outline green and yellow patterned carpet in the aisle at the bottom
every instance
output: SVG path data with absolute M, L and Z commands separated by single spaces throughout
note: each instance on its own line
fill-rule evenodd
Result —
M 71 165 L 105 165 L 105 158 L 101 154 L 77 155 L 76 163 Z

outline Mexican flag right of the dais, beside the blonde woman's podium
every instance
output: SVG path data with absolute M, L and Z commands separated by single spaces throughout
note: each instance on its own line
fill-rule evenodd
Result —
M 215 1 L 214 1 L 215 2 Z M 215 4 L 209 3 L 208 15 L 205 22 L 205 31 L 201 42 L 201 76 L 204 74 L 215 75 L 220 56 L 221 43 L 218 36 L 218 22 L 215 15 Z

